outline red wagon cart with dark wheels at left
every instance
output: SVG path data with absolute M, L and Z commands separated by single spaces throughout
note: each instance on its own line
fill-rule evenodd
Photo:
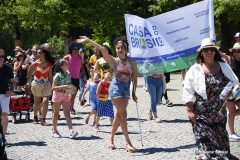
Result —
M 13 95 L 10 98 L 10 116 L 12 116 L 12 123 L 17 123 L 18 120 L 21 120 L 22 115 L 25 115 L 25 120 L 30 121 L 30 103 L 31 98 L 25 91 L 15 90 Z

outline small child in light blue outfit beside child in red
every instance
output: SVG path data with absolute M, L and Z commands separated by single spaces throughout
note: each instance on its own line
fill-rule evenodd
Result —
M 95 119 L 96 119 L 96 114 L 97 114 L 98 99 L 97 99 L 97 95 L 96 95 L 96 90 L 97 90 L 97 86 L 98 86 L 100 78 L 101 78 L 100 74 L 95 72 L 93 74 L 92 82 L 89 82 L 87 84 L 87 87 L 84 90 L 83 96 L 82 96 L 82 100 L 86 99 L 85 95 L 89 91 L 89 104 L 90 104 L 90 107 L 91 107 L 91 112 L 85 117 L 84 121 L 85 121 L 85 124 L 88 124 L 88 121 L 89 121 L 90 117 L 92 115 L 94 115 L 93 126 L 95 125 Z

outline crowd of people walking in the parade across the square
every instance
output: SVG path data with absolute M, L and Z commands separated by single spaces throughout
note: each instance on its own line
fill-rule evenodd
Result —
M 187 115 L 196 139 L 196 159 L 231 159 L 229 138 L 240 140 L 240 135 L 234 130 L 235 116 L 240 114 L 238 107 L 240 102 L 229 99 L 229 95 L 224 99 L 219 96 L 229 82 L 239 83 L 240 34 L 237 33 L 234 37 L 236 43 L 229 50 L 231 56 L 221 53 L 210 38 L 203 39 L 197 50 L 196 63 L 184 76 L 182 100 L 187 106 Z M 84 49 L 79 47 L 84 43 L 89 43 L 94 48 L 94 54 L 88 61 Z M 0 49 L 0 106 L 3 134 L 6 134 L 8 126 L 12 92 L 25 87 L 31 89 L 33 124 L 48 125 L 45 120 L 50 100 L 53 110 L 52 137 L 61 137 L 57 125 L 62 107 L 69 128 L 69 138 L 75 138 L 78 132 L 73 129 L 70 113 L 74 113 L 74 106 L 78 105 L 74 104 L 78 90 L 81 105 L 85 104 L 89 91 L 90 112 L 84 118 L 85 124 L 93 117 L 93 129 L 99 131 L 100 117 L 109 117 L 112 128 L 108 148 L 116 149 L 114 138 L 120 126 L 126 140 L 126 151 L 135 152 L 136 149 L 128 135 L 127 106 L 130 98 L 138 102 L 137 64 L 128 55 L 125 37 L 116 38 L 113 48 L 116 57 L 112 55 L 109 43 L 100 45 L 86 36 L 80 36 L 72 42 L 68 53 L 58 59 L 53 58 L 54 52 L 48 43 L 34 45 L 26 52 L 16 47 L 12 68 L 4 61 L 6 55 L 4 50 Z M 161 103 L 163 96 L 166 104 L 173 106 L 166 90 L 166 83 L 169 81 L 170 73 L 145 77 L 150 96 L 146 112 L 149 120 L 161 122 L 157 114 L 157 105 Z M 231 95 L 230 92 L 229 94 Z M 226 129 L 227 122 L 229 135 Z

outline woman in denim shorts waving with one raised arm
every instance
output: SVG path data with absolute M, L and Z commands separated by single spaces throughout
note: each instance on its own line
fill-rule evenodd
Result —
M 80 36 L 77 42 L 89 42 L 101 50 L 102 56 L 106 62 L 113 65 L 113 79 L 109 88 L 109 98 L 111 98 L 113 105 L 116 108 L 116 115 L 112 124 L 111 136 L 109 138 L 109 149 L 116 149 L 114 145 L 114 136 L 121 125 L 123 135 L 126 139 L 126 151 L 135 152 L 127 129 L 127 105 L 130 98 L 130 84 L 133 81 L 132 98 L 137 102 L 137 96 L 135 89 L 137 86 L 137 65 L 135 61 L 127 56 L 128 44 L 125 37 L 116 38 L 113 42 L 117 58 L 113 58 L 109 55 L 108 51 L 101 45 L 90 40 L 86 36 Z

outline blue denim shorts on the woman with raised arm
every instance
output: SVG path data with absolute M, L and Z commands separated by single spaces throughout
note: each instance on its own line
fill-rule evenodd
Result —
M 124 82 L 121 80 L 117 80 L 114 78 L 109 87 L 109 99 L 116 99 L 116 98 L 130 98 L 130 83 Z

